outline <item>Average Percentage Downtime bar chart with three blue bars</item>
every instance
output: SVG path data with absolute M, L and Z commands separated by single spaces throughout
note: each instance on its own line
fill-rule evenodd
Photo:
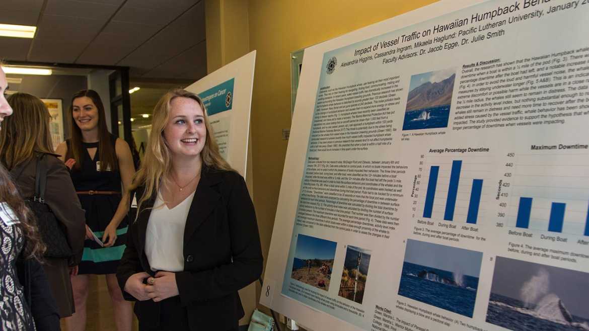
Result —
M 424 219 L 477 224 L 483 217 L 481 201 L 488 196 L 488 155 L 428 155 L 423 164 L 426 184 Z

